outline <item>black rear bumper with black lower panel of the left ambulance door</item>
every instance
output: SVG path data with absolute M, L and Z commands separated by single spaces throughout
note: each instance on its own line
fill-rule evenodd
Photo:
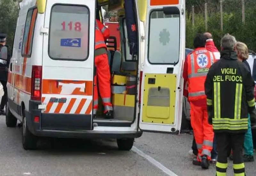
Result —
M 72 115 L 57 113 L 42 113 L 38 109 L 40 101 L 29 101 L 29 112 L 25 111 L 27 125 L 30 132 L 41 137 L 58 138 L 139 138 L 138 131 L 96 131 L 93 130 L 91 115 Z M 39 116 L 39 123 L 34 117 Z

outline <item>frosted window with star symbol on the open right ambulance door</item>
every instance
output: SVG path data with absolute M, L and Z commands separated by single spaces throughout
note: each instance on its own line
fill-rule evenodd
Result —
M 180 14 L 152 11 L 149 19 L 148 61 L 175 64 L 179 61 Z

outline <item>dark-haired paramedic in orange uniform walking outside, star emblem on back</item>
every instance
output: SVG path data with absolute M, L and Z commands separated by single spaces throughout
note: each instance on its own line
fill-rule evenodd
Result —
M 190 103 L 191 126 L 194 131 L 198 155 L 193 159 L 194 165 L 208 169 L 213 144 L 212 125 L 208 123 L 204 81 L 209 68 L 215 62 L 212 52 L 205 48 L 205 37 L 196 34 L 193 52 L 189 53 L 183 70 L 183 78 L 188 82 L 188 101 Z

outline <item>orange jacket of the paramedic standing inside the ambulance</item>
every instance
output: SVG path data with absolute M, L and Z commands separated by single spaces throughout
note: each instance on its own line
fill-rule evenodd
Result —
M 106 48 L 105 40 L 109 37 L 109 29 L 104 26 L 100 20 L 95 21 L 95 50 L 99 48 Z

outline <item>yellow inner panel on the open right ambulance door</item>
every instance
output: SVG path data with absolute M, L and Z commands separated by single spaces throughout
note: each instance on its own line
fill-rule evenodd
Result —
M 145 74 L 142 122 L 174 124 L 176 74 Z

